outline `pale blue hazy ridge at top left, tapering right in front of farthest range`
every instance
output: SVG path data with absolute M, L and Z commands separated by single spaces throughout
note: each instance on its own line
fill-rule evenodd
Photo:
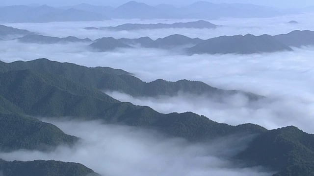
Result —
M 68 21 L 103 21 L 108 20 L 102 14 L 74 8 L 59 9 L 42 5 L 0 7 L 0 22 L 68 22 Z

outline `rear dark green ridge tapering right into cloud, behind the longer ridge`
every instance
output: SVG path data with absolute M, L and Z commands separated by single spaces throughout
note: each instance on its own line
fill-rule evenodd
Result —
M 18 61 L 10 64 L 0 63 L 1 67 L 4 71 L 32 69 L 41 73 L 48 72 L 63 76 L 86 87 L 121 91 L 132 96 L 175 96 L 178 92 L 183 92 L 217 98 L 242 93 L 252 100 L 261 98 L 261 96 L 253 93 L 238 90 L 222 90 L 197 81 L 180 80 L 169 82 L 159 79 L 146 83 L 130 75 L 130 73 L 119 69 L 108 67 L 88 68 L 75 64 L 52 62 L 47 59 L 38 59 L 29 62 Z

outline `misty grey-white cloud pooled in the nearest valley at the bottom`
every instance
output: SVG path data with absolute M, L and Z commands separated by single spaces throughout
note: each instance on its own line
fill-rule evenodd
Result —
M 45 120 L 47 121 L 47 120 Z M 54 159 L 79 162 L 104 176 L 271 176 L 261 167 L 243 168 L 225 158 L 243 150 L 252 136 L 231 136 L 209 143 L 189 143 L 152 131 L 97 121 L 48 120 L 82 140 L 73 149 L 51 153 L 1 153 L 4 160 Z M 236 140 L 235 140 L 236 139 Z

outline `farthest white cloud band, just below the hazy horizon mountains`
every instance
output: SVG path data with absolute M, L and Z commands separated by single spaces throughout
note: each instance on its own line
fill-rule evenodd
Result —
M 78 38 L 90 38 L 92 40 L 102 37 L 119 38 L 140 38 L 151 37 L 152 39 L 166 37 L 172 34 L 182 34 L 191 38 L 209 39 L 223 35 L 277 35 L 288 33 L 293 30 L 314 30 L 313 13 L 300 15 L 288 15 L 275 18 L 222 18 L 222 19 L 203 19 L 216 25 L 221 25 L 216 29 L 156 29 L 156 30 L 134 30 L 134 31 L 108 31 L 108 30 L 85 30 L 85 27 L 108 27 L 117 26 L 124 23 L 174 23 L 174 22 L 192 22 L 200 19 L 185 20 L 108 20 L 103 22 L 49 22 L 49 23 L 4 23 L 4 25 L 27 29 L 42 35 L 54 37 L 75 36 Z M 299 24 L 290 24 L 290 21 L 297 21 Z

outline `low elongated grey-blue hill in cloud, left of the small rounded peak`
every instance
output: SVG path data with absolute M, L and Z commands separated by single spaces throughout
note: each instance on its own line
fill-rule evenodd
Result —
M 58 37 L 49 37 L 43 35 L 26 35 L 21 38 L 17 38 L 19 42 L 24 43 L 37 43 L 37 44 L 56 44 L 56 43 L 68 43 L 68 42 L 92 42 L 92 40 L 85 38 L 85 39 L 78 39 L 76 37 L 65 37 L 65 38 L 58 38 Z

